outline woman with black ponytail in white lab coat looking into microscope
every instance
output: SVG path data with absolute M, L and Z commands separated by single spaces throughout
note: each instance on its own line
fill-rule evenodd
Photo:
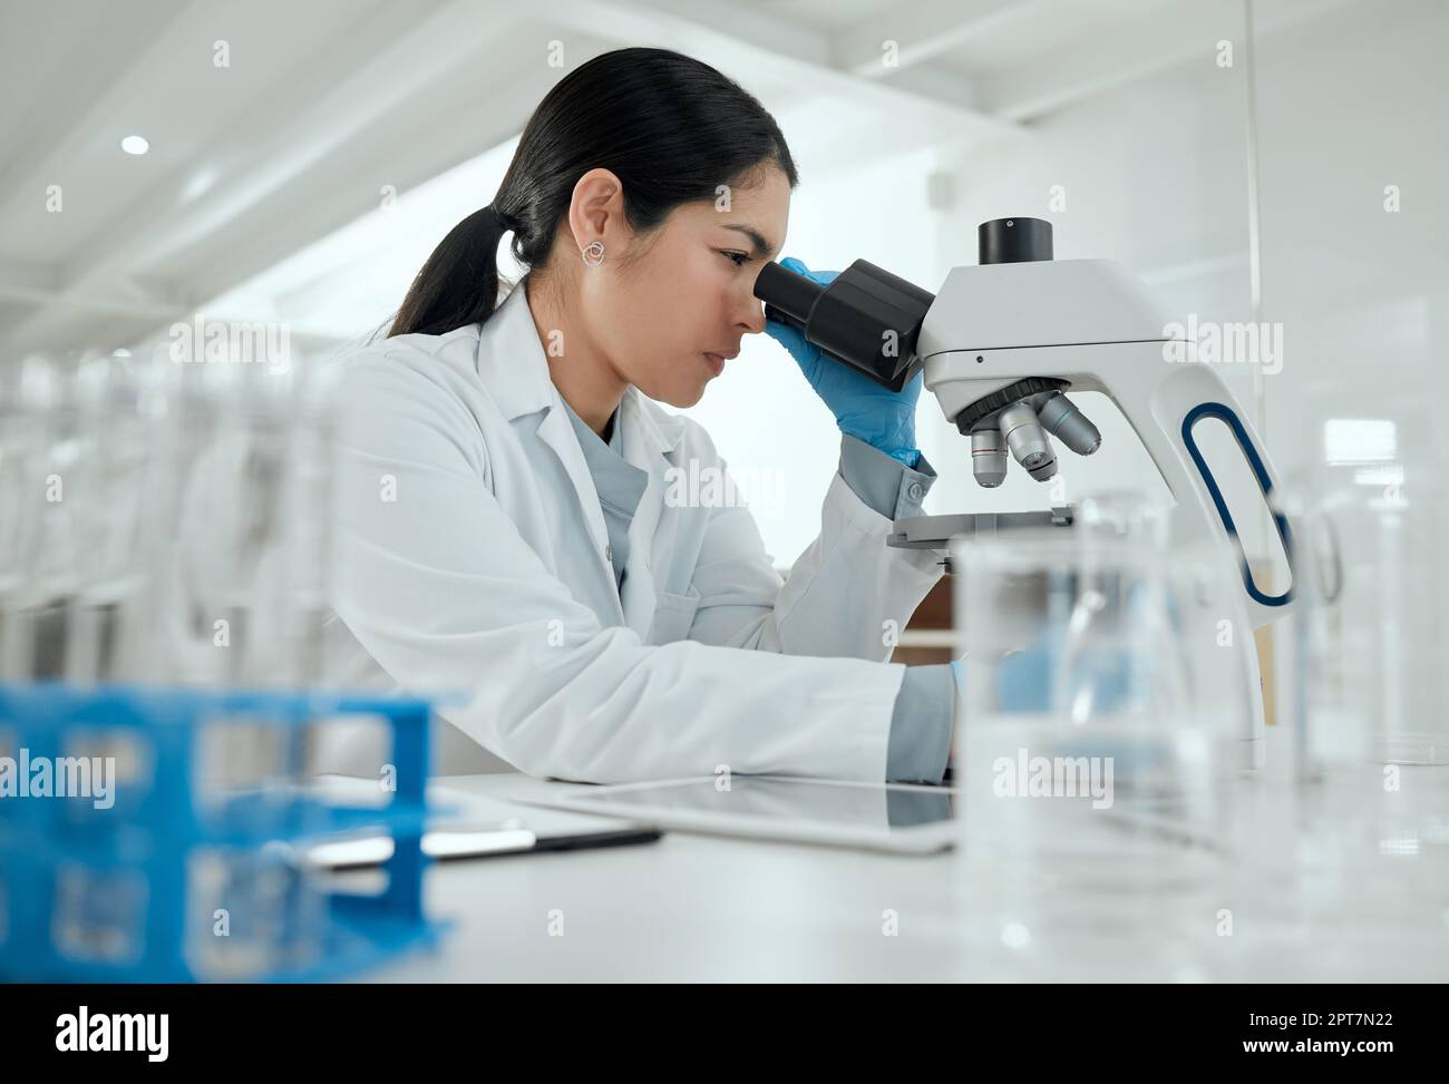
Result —
M 769 113 L 688 57 L 620 49 L 549 91 L 493 201 L 343 362 L 336 681 L 454 691 L 440 714 L 533 775 L 942 778 L 951 668 L 888 664 L 884 636 L 940 575 L 885 545 L 936 477 L 922 381 L 891 393 L 767 325 L 752 287 L 796 183 Z M 500 304 L 506 233 L 527 272 Z M 669 499 L 724 461 L 656 406 L 697 403 L 758 332 L 842 430 L 785 580 L 748 509 Z

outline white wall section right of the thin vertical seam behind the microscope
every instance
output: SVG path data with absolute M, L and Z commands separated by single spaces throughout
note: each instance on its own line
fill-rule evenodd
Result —
M 1264 304 L 1291 343 L 1268 413 L 1290 468 L 1321 458 L 1333 417 L 1390 417 L 1410 465 L 1446 462 L 1446 45 L 1449 4 L 1404 0 L 1259 48 Z

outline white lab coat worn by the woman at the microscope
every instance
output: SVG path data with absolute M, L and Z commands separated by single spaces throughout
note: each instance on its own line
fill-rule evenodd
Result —
M 623 454 L 649 481 L 620 600 L 522 287 L 481 326 L 341 365 L 332 683 L 451 693 L 440 714 L 533 775 L 884 778 L 904 672 L 884 623 L 904 628 L 940 568 L 887 548 L 891 522 L 839 472 L 781 580 L 748 509 L 667 504 L 667 471 L 724 461 L 629 388 Z

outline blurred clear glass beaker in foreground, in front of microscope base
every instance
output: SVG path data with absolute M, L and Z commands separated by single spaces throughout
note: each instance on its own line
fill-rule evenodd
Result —
M 1188 943 L 1232 846 L 1248 709 L 1213 635 L 1222 561 L 1051 529 L 956 541 L 952 564 L 968 910 L 1037 942 Z

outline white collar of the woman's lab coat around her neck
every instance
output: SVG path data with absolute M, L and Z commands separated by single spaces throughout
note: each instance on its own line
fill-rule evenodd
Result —
M 510 422 L 545 407 L 556 412 L 564 409 L 564 399 L 549 375 L 548 358 L 543 357 L 543 343 L 539 342 L 523 283 L 513 288 L 483 325 L 478 377 Z M 684 435 L 682 417 L 653 409 L 633 385 L 625 390 L 619 422 L 652 455 L 672 454 Z

